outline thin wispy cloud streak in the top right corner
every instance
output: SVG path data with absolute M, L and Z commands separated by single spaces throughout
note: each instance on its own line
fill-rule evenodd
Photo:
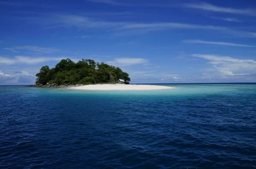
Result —
M 212 5 L 210 3 L 184 3 L 183 7 L 201 9 L 201 10 L 205 10 L 205 11 L 221 12 L 221 13 L 243 14 L 243 15 L 256 16 L 255 9 L 250 9 L 250 8 L 237 9 L 237 8 L 230 8 L 230 7 L 221 7 L 221 6 Z

